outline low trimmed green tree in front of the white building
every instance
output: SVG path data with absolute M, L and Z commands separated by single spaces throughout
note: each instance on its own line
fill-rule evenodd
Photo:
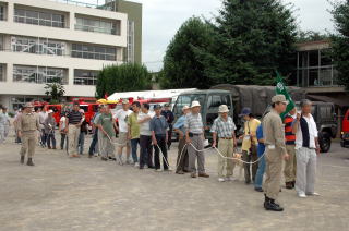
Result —
M 105 66 L 98 74 L 96 97 L 104 98 L 116 92 L 145 90 L 152 88 L 147 69 L 137 63 Z

